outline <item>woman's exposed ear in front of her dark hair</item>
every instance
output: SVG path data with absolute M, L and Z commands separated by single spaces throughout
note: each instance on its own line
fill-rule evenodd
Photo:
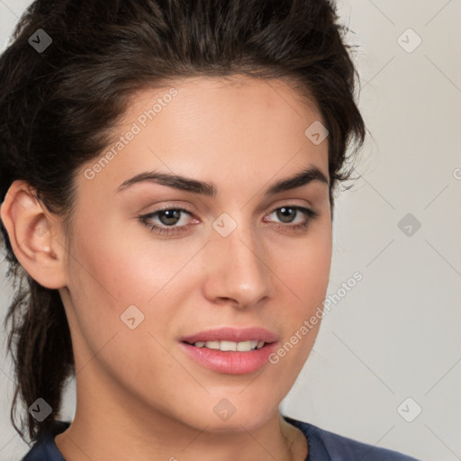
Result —
M 31 185 L 16 180 L 8 189 L 0 217 L 19 263 L 45 288 L 67 285 L 65 242 L 59 219 L 37 198 Z

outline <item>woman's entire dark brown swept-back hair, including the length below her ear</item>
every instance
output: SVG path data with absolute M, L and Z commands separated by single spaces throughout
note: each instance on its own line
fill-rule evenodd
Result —
M 77 169 L 109 144 L 111 129 L 138 90 L 190 76 L 286 78 L 319 108 L 330 131 L 332 191 L 365 139 L 355 103 L 357 70 L 328 0 L 39 0 L 16 25 L 0 57 L 0 203 L 15 179 L 70 229 Z M 42 29 L 52 42 L 34 49 Z M 306 127 L 307 128 L 307 127 Z M 350 155 L 347 157 L 349 148 Z M 14 300 L 6 316 L 16 387 L 11 419 L 40 439 L 59 416 L 75 373 L 59 292 L 21 267 L 2 224 Z M 39 422 L 16 407 L 43 398 Z M 27 410 L 27 408 L 26 408 Z

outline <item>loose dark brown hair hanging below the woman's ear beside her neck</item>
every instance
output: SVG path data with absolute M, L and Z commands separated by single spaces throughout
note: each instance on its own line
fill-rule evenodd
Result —
M 66 379 L 74 372 L 74 357 L 68 320 L 59 292 L 44 288 L 23 271 L 13 303 L 6 314 L 5 327 L 10 328 L 7 349 L 14 360 L 16 383 L 11 420 L 21 437 L 39 440 L 59 413 Z M 12 271 L 8 273 L 11 276 Z M 24 282 L 28 287 L 24 288 Z M 37 399 L 43 402 L 36 403 Z M 18 404 L 31 410 L 17 424 Z M 44 420 L 42 417 L 50 411 Z M 34 414 L 35 413 L 35 414 Z

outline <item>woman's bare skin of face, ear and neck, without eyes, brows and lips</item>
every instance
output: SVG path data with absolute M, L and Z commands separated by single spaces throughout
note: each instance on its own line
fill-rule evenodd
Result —
M 170 87 L 134 95 L 117 137 Z M 77 411 L 57 446 L 68 461 L 303 461 L 306 439 L 278 407 L 320 322 L 276 365 L 249 375 L 209 370 L 178 340 L 261 326 L 282 345 L 321 306 L 331 261 L 329 185 L 312 181 L 264 196 L 305 167 L 328 178 L 328 139 L 314 145 L 304 135 L 321 115 L 283 80 L 194 77 L 175 88 L 176 97 L 93 179 L 84 172 L 98 158 L 77 172 L 71 234 L 23 181 L 1 209 L 16 257 L 41 285 L 59 290 L 68 316 Z M 153 169 L 212 182 L 218 194 L 153 182 L 117 192 Z M 175 224 L 188 229 L 172 237 L 139 220 L 167 205 L 191 212 Z M 292 230 L 306 216 L 282 221 L 276 210 L 289 205 L 318 216 Z M 237 223 L 225 238 L 212 227 L 222 212 Z M 151 220 L 165 222 L 165 215 Z M 134 330 L 120 318 L 132 304 L 145 316 Z M 223 398 L 236 409 L 225 421 L 213 411 Z

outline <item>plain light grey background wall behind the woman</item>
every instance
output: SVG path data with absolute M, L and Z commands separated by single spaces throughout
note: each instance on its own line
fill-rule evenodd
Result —
M 28 4 L 0 0 L 2 49 Z M 329 294 L 356 271 L 363 280 L 323 319 L 282 411 L 421 461 L 461 460 L 461 1 L 339 7 L 359 45 L 359 106 L 373 138 L 361 178 L 337 199 Z M 409 28 L 422 40 L 411 52 Z M 410 236 L 398 227 L 407 213 L 421 223 Z M 11 292 L 0 283 L 3 320 Z M 28 447 L 8 420 L 13 374 L 2 343 L 0 458 L 16 461 Z M 407 419 L 422 409 L 411 422 L 397 410 L 409 397 Z

